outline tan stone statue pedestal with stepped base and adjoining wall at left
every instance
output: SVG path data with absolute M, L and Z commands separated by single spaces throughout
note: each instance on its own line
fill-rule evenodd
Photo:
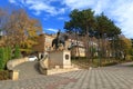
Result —
M 39 70 L 43 75 L 53 75 L 74 70 L 71 66 L 70 51 L 50 51 L 44 59 L 40 60 Z

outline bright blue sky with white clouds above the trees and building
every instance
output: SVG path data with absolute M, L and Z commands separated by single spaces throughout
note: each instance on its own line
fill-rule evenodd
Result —
M 58 29 L 64 31 L 64 21 L 73 9 L 91 8 L 95 14 L 104 12 L 112 19 L 122 33 L 133 38 L 133 0 L 1 0 L 2 6 L 24 8 L 31 17 L 38 18 L 43 31 L 55 33 Z

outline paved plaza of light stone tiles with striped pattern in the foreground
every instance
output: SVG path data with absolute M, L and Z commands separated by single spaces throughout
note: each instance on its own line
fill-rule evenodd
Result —
M 0 89 L 133 89 L 133 67 L 130 65 L 6 80 L 0 81 Z

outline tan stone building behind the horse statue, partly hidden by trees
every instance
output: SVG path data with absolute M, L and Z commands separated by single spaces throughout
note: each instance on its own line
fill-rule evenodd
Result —
M 39 53 L 43 53 L 45 51 L 53 50 L 52 48 L 52 40 L 55 39 L 57 34 L 40 34 L 38 38 L 38 44 L 33 47 L 34 51 Z M 62 46 L 60 47 L 62 49 Z M 72 39 L 68 39 L 65 41 L 65 50 L 71 51 L 72 57 L 85 57 L 85 49 L 83 47 L 82 41 L 76 41 Z

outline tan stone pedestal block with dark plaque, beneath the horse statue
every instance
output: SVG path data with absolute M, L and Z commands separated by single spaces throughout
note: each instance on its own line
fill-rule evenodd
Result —
M 49 68 L 71 68 L 71 55 L 68 50 L 49 52 Z

